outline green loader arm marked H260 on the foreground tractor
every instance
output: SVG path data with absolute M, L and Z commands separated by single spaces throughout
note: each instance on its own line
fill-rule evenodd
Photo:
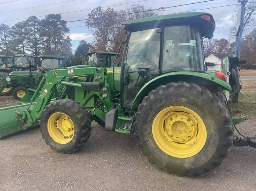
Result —
M 62 82 L 65 82 L 65 86 L 80 87 L 81 82 L 65 81 L 65 78 L 75 78 L 76 76 L 96 76 L 95 73 L 101 71 L 96 68 L 79 68 L 79 69 L 59 69 L 51 70 L 44 74 L 42 81 L 36 89 L 33 97 L 30 100 L 30 104 L 23 113 L 16 112 L 17 118 L 20 121 L 20 129 L 24 130 L 36 123 L 45 106 L 50 101 L 60 99 L 60 95 L 57 94 L 57 86 Z M 104 70 L 103 70 L 104 75 Z M 33 105 L 33 108 L 30 107 Z

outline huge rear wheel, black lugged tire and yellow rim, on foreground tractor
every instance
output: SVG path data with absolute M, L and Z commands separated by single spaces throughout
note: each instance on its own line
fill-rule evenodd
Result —
M 134 125 L 143 154 L 168 174 L 206 174 L 233 145 L 226 106 L 193 83 L 168 83 L 151 91 L 139 105 Z

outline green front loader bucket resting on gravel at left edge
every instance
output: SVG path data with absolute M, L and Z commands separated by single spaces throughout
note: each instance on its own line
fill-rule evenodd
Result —
M 18 121 L 17 114 L 23 113 L 23 110 L 28 108 L 29 104 L 14 105 L 7 108 L 0 108 L 0 138 L 11 135 L 13 133 L 22 131 L 20 129 L 20 122 Z M 33 109 L 33 104 L 30 106 Z M 39 121 L 33 124 L 32 127 L 38 126 Z

